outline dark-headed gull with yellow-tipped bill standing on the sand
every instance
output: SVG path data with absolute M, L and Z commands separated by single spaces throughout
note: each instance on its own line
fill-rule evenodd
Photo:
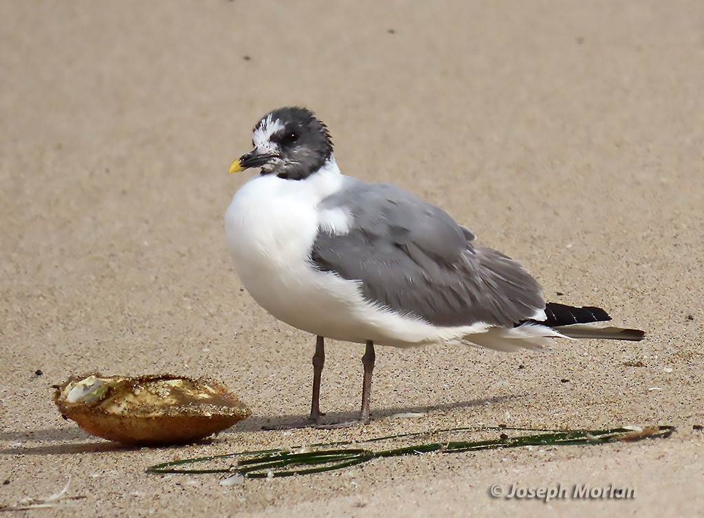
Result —
M 230 172 L 260 168 L 234 195 L 225 233 L 234 268 L 271 315 L 317 336 L 309 422 L 320 423 L 325 339 L 363 343 L 362 408 L 370 422 L 375 344 L 455 343 L 501 351 L 553 338 L 643 339 L 593 306 L 546 303 L 538 282 L 444 210 L 386 183 L 343 175 L 327 126 L 278 108 L 253 129 Z

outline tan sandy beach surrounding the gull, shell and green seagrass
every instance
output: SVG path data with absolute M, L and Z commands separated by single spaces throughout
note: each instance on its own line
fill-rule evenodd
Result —
M 703 515 L 704 4 L 0 0 L 0 507 L 37 516 Z M 436 203 L 549 301 L 639 343 L 546 353 L 377 348 L 372 423 L 308 415 L 315 337 L 241 286 L 228 175 L 269 110 L 324 120 L 341 170 Z M 356 415 L 363 346 L 331 341 L 329 419 Z M 253 416 L 124 448 L 61 418 L 87 372 L 215 377 Z M 413 412 L 411 418 L 396 418 Z M 672 425 L 666 439 L 376 459 L 222 486 L 177 458 L 450 427 Z M 492 498 L 492 486 L 634 498 Z M 18 512 L 20 514 L 20 512 Z

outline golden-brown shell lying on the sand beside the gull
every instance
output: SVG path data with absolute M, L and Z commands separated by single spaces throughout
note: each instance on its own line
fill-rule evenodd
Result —
M 130 445 L 196 441 L 252 413 L 218 381 L 171 374 L 71 377 L 54 402 L 89 434 Z

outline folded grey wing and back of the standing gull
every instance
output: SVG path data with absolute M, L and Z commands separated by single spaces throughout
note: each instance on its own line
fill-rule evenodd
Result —
M 369 301 L 439 326 L 512 327 L 545 308 L 539 284 L 518 263 L 474 246 L 472 232 L 399 187 L 346 178 L 320 204 L 334 207 L 351 215 L 349 231 L 320 229 L 310 261 L 360 281 Z

